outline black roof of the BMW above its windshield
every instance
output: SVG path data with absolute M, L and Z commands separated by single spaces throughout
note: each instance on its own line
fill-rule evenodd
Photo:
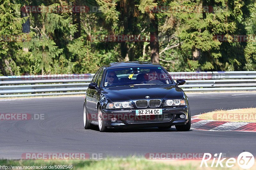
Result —
M 148 61 L 115 62 L 115 63 L 110 63 L 109 65 L 106 65 L 107 69 L 119 68 L 119 67 L 133 67 L 133 66 L 137 67 L 137 66 L 160 66 L 160 65 L 156 63 L 151 63 Z

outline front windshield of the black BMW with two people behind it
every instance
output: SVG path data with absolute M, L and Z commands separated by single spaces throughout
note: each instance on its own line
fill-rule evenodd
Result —
M 104 87 L 123 85 L 173 84 L 172 78 L 162 67 L 125 67 L 108 69 Z

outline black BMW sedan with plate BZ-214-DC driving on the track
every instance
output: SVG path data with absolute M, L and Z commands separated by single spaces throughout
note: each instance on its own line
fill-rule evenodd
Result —
M 84 99 L 84 128 L 171 128 L 188 131 L 188 97 L 168 72 L 151 62 L 119 62 L 102 66 L 88 85 Z

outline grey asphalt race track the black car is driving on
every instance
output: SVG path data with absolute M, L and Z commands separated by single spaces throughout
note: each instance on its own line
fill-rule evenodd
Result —
M 256 93 L 189 94 L 192 115 L 218 108 L 256 107 Z M 0 100 L 0 113 L 44 114 L 44 120 L 0 121 L 0 158 L 22 153 L 103 153 L 144 156 L 146 153 L 226 153 L 256 155 L 256 133 L 171 129 L 112 130 L 83 128 L 84 97 Z

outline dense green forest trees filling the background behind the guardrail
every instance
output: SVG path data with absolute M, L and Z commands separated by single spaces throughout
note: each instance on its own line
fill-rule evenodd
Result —
M 28 11 L 23 18 L 20 11 L 24 5 L 74 3 L 100 10 L 80 13 L 81 37 L 76 39 L 72 11 Z M 150 11 L 156 6 L 209 6 L 213 11 Z M 160 64 L 168 71 L 256 69 L 256 36 L 247 42 L 216 39 L 256 34 L 254 0 L 0 0 L 0 75 L 94 73 L 111 62 L 150 61 L 150 24 L 156 18 Z M 30 33 L 23 33 L 27 19 Z M 147 41 L 97 39 L 104 35 L 140 35 Z

